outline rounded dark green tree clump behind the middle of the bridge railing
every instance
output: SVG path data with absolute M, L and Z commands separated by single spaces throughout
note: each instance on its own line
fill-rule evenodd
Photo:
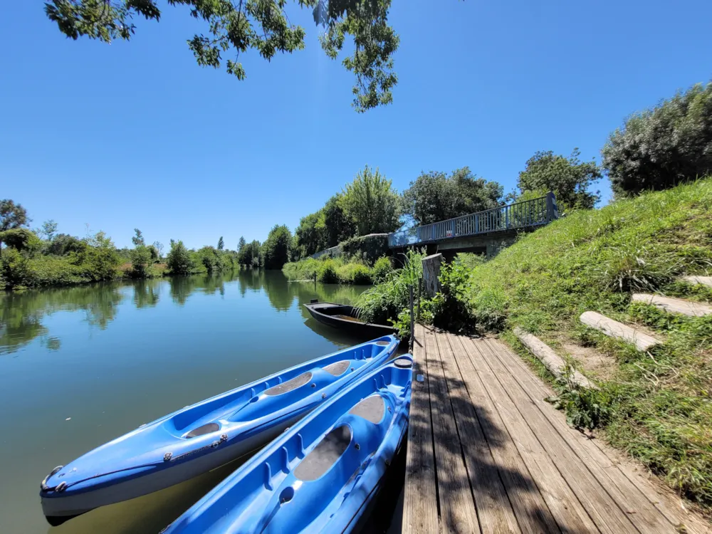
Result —
M 502 192 L 500 184 L 476 177 L 468 167 L 450 176 L 424 172 L 403 192 L 403 211 L 417 224 L 431 224 L 495 208 Z

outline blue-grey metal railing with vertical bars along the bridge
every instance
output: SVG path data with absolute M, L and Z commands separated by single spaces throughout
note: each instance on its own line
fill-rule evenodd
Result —
M 559 216 L 552 192 L 545 197 L 499 206 L 469 215 L 388 234 L 388 246 L 399 248 L 456 237 L 542 226 Z

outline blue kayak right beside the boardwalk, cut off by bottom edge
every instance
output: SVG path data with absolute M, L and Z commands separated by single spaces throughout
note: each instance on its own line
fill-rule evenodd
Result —
M 408 426 L 412 357 L 343 389 L 207 493 L 163 534 L 345 533 Z

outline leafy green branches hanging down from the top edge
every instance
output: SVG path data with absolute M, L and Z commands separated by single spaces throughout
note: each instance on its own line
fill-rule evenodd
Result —
M 362 112 L 390 103 L 391 89 L 397 83 L 392 56 L 399 45 L 388 24 L 391 0 L 295 3 L 313 10 L 315 23 L 325 31 L 321 46 L 330 58 L 339 56 L 347 37 L 353 38 L 354 51 L 342 64 L 356 77 L 354 108 Z M 168 0 L 168 4 L 189 6 L 191 15 L 208 26 L 208 36 L 195 35 L 187 41 L 197 63 L 219 68 L 222 54 L 231 51 L 234 60 L 225 61 L 226 70 L 239 80 L 246 76 L 240 54 L 249 49 L 271 61 L 277 52 L 304 48 L 304 28 L 289 23 L 286 0 Z M 134 16 L 155 21 L 161 16 L 157 0 L 48 0 L 45 13 L 66 36 L 75 40 L 87 36 L 105 43 L 129 40 L 136 30 L 131 22 Z

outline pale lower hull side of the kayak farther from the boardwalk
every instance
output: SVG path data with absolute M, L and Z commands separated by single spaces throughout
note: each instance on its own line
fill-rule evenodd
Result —
M 75 495 L 68 493 L 66 496 L 43 497 L 41 499 L 42 511 L 50 525 L 57 526 L 77 515 L 92 511 L 94 508 L 120 503 L 121 501 L 128 501 L 132 498 L 174 486 L 175 484 L 190 480 L 203 473 L 212 471 L 215 468 L 229 464 L 229 462 L 255 451 L 263 444 L 266 444 L 281 434 L 288 426 L 301 419 L 303 415 L 304 414 L 300 414 L 298 417 L 273 426 L 260 434 L 251 436 L 236 444 L 226 446 L 224 449 L 216 449 L 209 454 L 204 454 L 203 456 L 199 456 L 196 459 L 186 461 L 182 464 L 159 469 L 154 473 L 137 476 L 131 480 L 104 486 L 103 488 L 97 488 L 95 490 L 84 491 Z M 110 466 L 108 466 L 108 471 L 110 471 Z

